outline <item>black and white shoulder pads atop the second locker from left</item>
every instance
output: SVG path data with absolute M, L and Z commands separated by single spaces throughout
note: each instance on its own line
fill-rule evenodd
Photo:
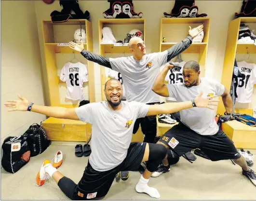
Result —
M 143 13 L 134 12 L 134 4 L 132 0 L 118 1 L 108 0 L 109 9 L 103 12 L 103 16 L 107 19 L 113 18 L 142 18 Z

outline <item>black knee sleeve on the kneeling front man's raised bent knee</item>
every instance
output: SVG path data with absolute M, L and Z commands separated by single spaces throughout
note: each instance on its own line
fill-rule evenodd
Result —
M 162 163 L 162 160 L 167 154 L 167 148 L 160 144 L 148 144 L 149 156 L 147 169 L 149 172 L 155 172 L 157 167 Z

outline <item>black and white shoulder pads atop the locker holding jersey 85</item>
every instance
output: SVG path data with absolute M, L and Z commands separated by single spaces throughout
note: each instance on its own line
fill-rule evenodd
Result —
M 207 14 L 198 14 L 198 7 L 195 0 L 175 0 L 171 13 L 164 12 L 164 17 L 206 17 Z

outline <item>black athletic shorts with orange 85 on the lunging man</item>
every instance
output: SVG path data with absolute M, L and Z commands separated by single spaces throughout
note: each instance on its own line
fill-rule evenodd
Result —
M 200 135 L 181 122 L 162 135 L 159 141 L 169 146 L 179 156 L 194 148 L 200 148 L 211 161 L 241 157 L 233 142 L 221 130 L 214 135 Z

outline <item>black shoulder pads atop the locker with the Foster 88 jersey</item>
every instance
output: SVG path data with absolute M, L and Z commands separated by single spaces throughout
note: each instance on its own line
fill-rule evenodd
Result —
M 81 11 L 78 0 L 60 0 L 60 6 L 63 7 L 61 12 L 53 11 L 50 14 L 54 23 L 66 22 L 68 19 L 90 19 L 88 11 L 85 11 L 85 13 Z M 71 10 L 76 14 L 71 14 Z

